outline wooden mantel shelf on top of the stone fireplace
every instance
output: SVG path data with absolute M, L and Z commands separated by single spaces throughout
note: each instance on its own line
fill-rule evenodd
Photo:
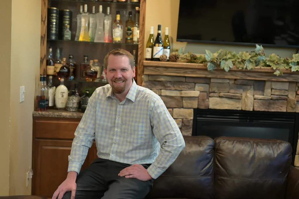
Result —
M 206 64 L 143 61 L 144 74 L 147 75 L 171 75 L 186 77 L 229 78 L 271 81 L 295 81 L 299 82 L 299 72 L 283 70 L 283 75 L 274 75 L 274 69 L 268 67 L 256 67 L 254 70 L 239 70 L 235 66 L 228 72 L 217 67 L 213 72 L 207 70 Z

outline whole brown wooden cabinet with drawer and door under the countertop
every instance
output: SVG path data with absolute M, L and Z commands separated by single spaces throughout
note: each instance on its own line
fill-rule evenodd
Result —
M 57 187 L 65 180 L 68 155 L 74 132 L 80 119 L 33 117 L 32 195 L 52 198 Z M 82 169 L 97 158 L 94 144 L 89 149 Z

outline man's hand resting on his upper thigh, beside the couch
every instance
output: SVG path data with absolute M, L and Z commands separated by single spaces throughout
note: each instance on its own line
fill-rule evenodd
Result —
M 152 179 L 152 177 L 147 172 L 146 168 L 139 164 L 132 164 L 131 166 L 124 168 L 118 174 L 119 176 L 124 176 L 126 178 L 137 178 L 141 181 L 147 181 Z

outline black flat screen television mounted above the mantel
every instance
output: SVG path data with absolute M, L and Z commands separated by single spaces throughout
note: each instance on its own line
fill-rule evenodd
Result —
M 180 0 L 176 41 L 299 48 L 299 0 Z

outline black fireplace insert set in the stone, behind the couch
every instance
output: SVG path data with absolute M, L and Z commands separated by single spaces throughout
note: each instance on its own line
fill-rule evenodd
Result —
M 192 135 L 280 139 L 292 145 L 292 165 L 298 143 L 299 113 L 194 109 Z

